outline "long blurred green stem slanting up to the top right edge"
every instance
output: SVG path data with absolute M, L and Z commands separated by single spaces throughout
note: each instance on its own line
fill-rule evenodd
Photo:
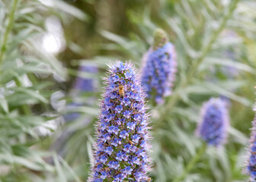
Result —
M 186 77 L 184 77 L 184 79 L 181 80 L 181 82 L 178 84 L 177 88 L 174 90 L 174 93 L 172 94 L 170 99 L 168 99 L 167 105 L 165 105 L 165 108 L 163 108 L 162 118 L 160 118 L 160 122 L 164 120 L 164 117 L 166 114 L 168 114 L 168 111 L 170 111 L 170 109 L 173 107 L 173 105 L 175 105 L 176 102 L 178 102 L 178 100 L 180 99 L 179 93 L 181 92 L 181 89 L 184 89 L 184 87 L 186 87 L 187 84 L 190 83 L 190 81 L 194 77 L 194 74 L 196 74 L 197 68 L 203 62 L 203 60 L 206 57 L 206 55 L 208 54 L 208 52 L 210 52 L 210 50 L 212 49 L 213 43 L 216 42 L 216 39 L 218 38 L 219 34 L 226 27 L 227 21 L 232 16 L 232 13 L 235 10 L 235 7 L 238 2 L 239 2 L 239 0 L 234 0 L 231 2 L 231 5 L 229 6 L 229 10 L 228 10 L 227 14 L 223 17 L 218 30 L 216 30 L 211 35 L 209 42 L 205 46 L 203 46 L 201 55 L 196 60 L 193 61 L 194 64 L 192 64 L 190 69 L 187 71 Z

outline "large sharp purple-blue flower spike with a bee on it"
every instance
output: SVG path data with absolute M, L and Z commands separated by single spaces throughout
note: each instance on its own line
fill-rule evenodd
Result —
M 149 181 L 149 127 L 144 93 L 130 63 L 109 68 L 88 181 Z

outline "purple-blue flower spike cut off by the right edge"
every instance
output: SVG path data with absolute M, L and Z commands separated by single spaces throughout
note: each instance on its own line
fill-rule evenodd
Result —
M 246 164 L 246 171 L 250 175 L 250 181 L 256 181 L 256 116 L 252 122 L 251 139 L 249 146 L 249 158 Z

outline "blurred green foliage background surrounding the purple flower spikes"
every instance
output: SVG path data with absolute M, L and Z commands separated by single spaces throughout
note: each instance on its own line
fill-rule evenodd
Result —
M 200 107 L 218 96 L 229 103 L 228 142 L 206 149 L 184 181 L 248 178 L 254 0 L 0 0 L 0 25 L 0 181 L 86 181 L 106 63 L 139 70 L 158 27 L 176 47 L 178 72 L 165 105 L 149 105 L 152 180 L 182 174 L 203 145 L 194 135 Z M 82 74 L 98 80 L 94 92 L 72 89 L 79 64 L 98 67 Z M 64 124 L 65 102 L 78 101 L 80 118 Z

